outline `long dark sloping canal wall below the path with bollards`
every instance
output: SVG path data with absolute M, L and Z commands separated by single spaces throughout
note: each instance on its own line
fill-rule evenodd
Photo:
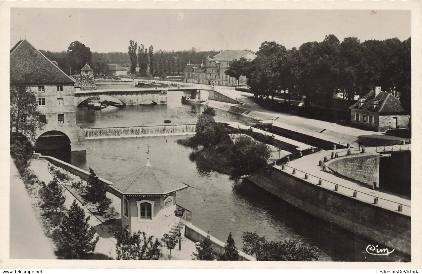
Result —
M 410 216 L 319 187 L 271 166 L 246 180 L 315 217 L 411 254 Z

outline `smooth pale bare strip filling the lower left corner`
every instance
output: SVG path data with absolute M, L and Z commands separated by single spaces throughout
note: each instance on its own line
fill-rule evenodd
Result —
M 10 160 L 10 253 L 11 259 L 57 259 L 54 246 L 35 217 L 24 182 Z

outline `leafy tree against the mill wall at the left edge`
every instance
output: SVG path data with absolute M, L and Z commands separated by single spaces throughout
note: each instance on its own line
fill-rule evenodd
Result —
M 10 88 L 10 134 L 11 137 L 25 136 L 35 141 L 35 134 L 43 127 L 40 122 L 41 112 L 38 101 L 29 87 L 24 84 L 12 85 Z M 12 136 L 14 133 L 14 136 Z M 12 141 L 12 140 L 11 140 Z

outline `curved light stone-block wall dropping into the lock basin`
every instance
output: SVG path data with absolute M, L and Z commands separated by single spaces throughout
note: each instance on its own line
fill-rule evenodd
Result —
M 346 178 L 370 186 L 376 182 L 376 186 L 379 186 L 379 154 L 376 152 L 335 158 L 325 166 Z

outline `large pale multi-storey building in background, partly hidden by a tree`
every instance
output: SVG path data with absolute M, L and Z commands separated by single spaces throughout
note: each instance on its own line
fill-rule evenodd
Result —
M 252 61 L 257 57 L 253 52 L 249 50 L 223 50 L 222 52 L 209 57 L 206 60 L 206 75 L 207 84 L 221 85 L 234 87 L 236 85 L 245 85 L 246 76 L 242 75 L 239 78 L 239 82 L 234 77 L 230 77 L 225 74 L 225 71 L 229 68 L 229 64 L 233 60 L 245 58 L 248 61 Z

